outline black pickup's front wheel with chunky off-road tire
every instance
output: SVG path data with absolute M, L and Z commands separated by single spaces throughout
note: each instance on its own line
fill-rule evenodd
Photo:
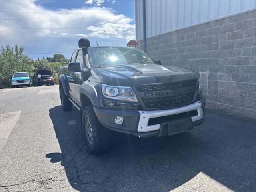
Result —
M 86 134 L 86 143 L 92 154 L 99 154 L 110 149 L 111 130 L 100 124 L 93 106 L 86 106 L 82 114 L 82 127 Z

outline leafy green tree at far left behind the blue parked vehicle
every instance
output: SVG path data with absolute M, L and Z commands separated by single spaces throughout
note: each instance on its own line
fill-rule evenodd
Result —
M 32 75 L 34 71 L 34 61 L 23 53 L 22 46 L 15 45 L 14 48 L 9 45 L 0 51 L 0 81 L 5 88 L 10 87 L 10 76 L 15 72 L 28 72 Z

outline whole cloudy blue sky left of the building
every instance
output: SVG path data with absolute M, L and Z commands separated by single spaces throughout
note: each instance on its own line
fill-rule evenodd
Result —
M 0 45 L 24 46 L 34 59 L 49 52 L 69 58 L 79 38 L 92 46 L 135 39 L 134 0 L 0 0 L 0 10 Z

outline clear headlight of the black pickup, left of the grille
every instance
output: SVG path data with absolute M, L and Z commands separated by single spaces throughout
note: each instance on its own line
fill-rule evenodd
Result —
M 107 98 L 121 101 L 138 102 L 138 99 L 131 87 L 102 84 L 101 88 L 103 95 Z

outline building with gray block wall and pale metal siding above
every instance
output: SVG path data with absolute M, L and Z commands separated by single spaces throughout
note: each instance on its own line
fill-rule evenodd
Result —
M 142 50 L 197 71 L 208 108 L 256 118 L 255 0 L 135 0 L 135 9 Z

